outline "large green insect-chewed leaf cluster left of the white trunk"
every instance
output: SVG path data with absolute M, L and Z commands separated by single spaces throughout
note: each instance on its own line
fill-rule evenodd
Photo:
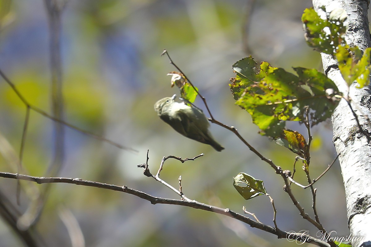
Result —
M 303 120 L 306 106 L 311 123 L 317 124 L 330 117 L 338 104 L 325 93 L 338 91 L 336 85 L 315 69 L 294 68 L 295 76 L 262 62 L 259 70 L 250 56 L 233 64 L 233 70 L 236 77 L 229 84 L 233 98 L 251 114 L 262 135 L 280 137 L 285 121 Z

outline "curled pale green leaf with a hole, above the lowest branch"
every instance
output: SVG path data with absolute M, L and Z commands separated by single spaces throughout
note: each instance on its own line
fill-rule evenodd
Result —
M 233 177 L 233 186 L 245 200 L 267 194 L 263 181 L 255 179 L 246 173 L 239 173 L 236 177 Z

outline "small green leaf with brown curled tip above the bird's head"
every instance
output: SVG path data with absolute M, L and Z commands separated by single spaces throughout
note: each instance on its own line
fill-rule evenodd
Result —
M 181 98 L 189 101 L 190 103 L 193 103 L 196 100 L 198 94 L 197 87 L 193 88 L 182 73 L 173 71 L 167 75 L 171 76 L 171 87 L 176 85 L 180 89 Z

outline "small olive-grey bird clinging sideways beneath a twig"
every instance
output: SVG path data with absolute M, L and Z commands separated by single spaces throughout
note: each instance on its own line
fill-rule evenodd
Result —
M 155 103 L 155 111 L 160 119 L 185 137 L 211 145 L 216 151 L 224 147 L 217 143 L 209 131 L 209 121 L 197 107 L 175 102 L 176 95 L 165 97 Z

